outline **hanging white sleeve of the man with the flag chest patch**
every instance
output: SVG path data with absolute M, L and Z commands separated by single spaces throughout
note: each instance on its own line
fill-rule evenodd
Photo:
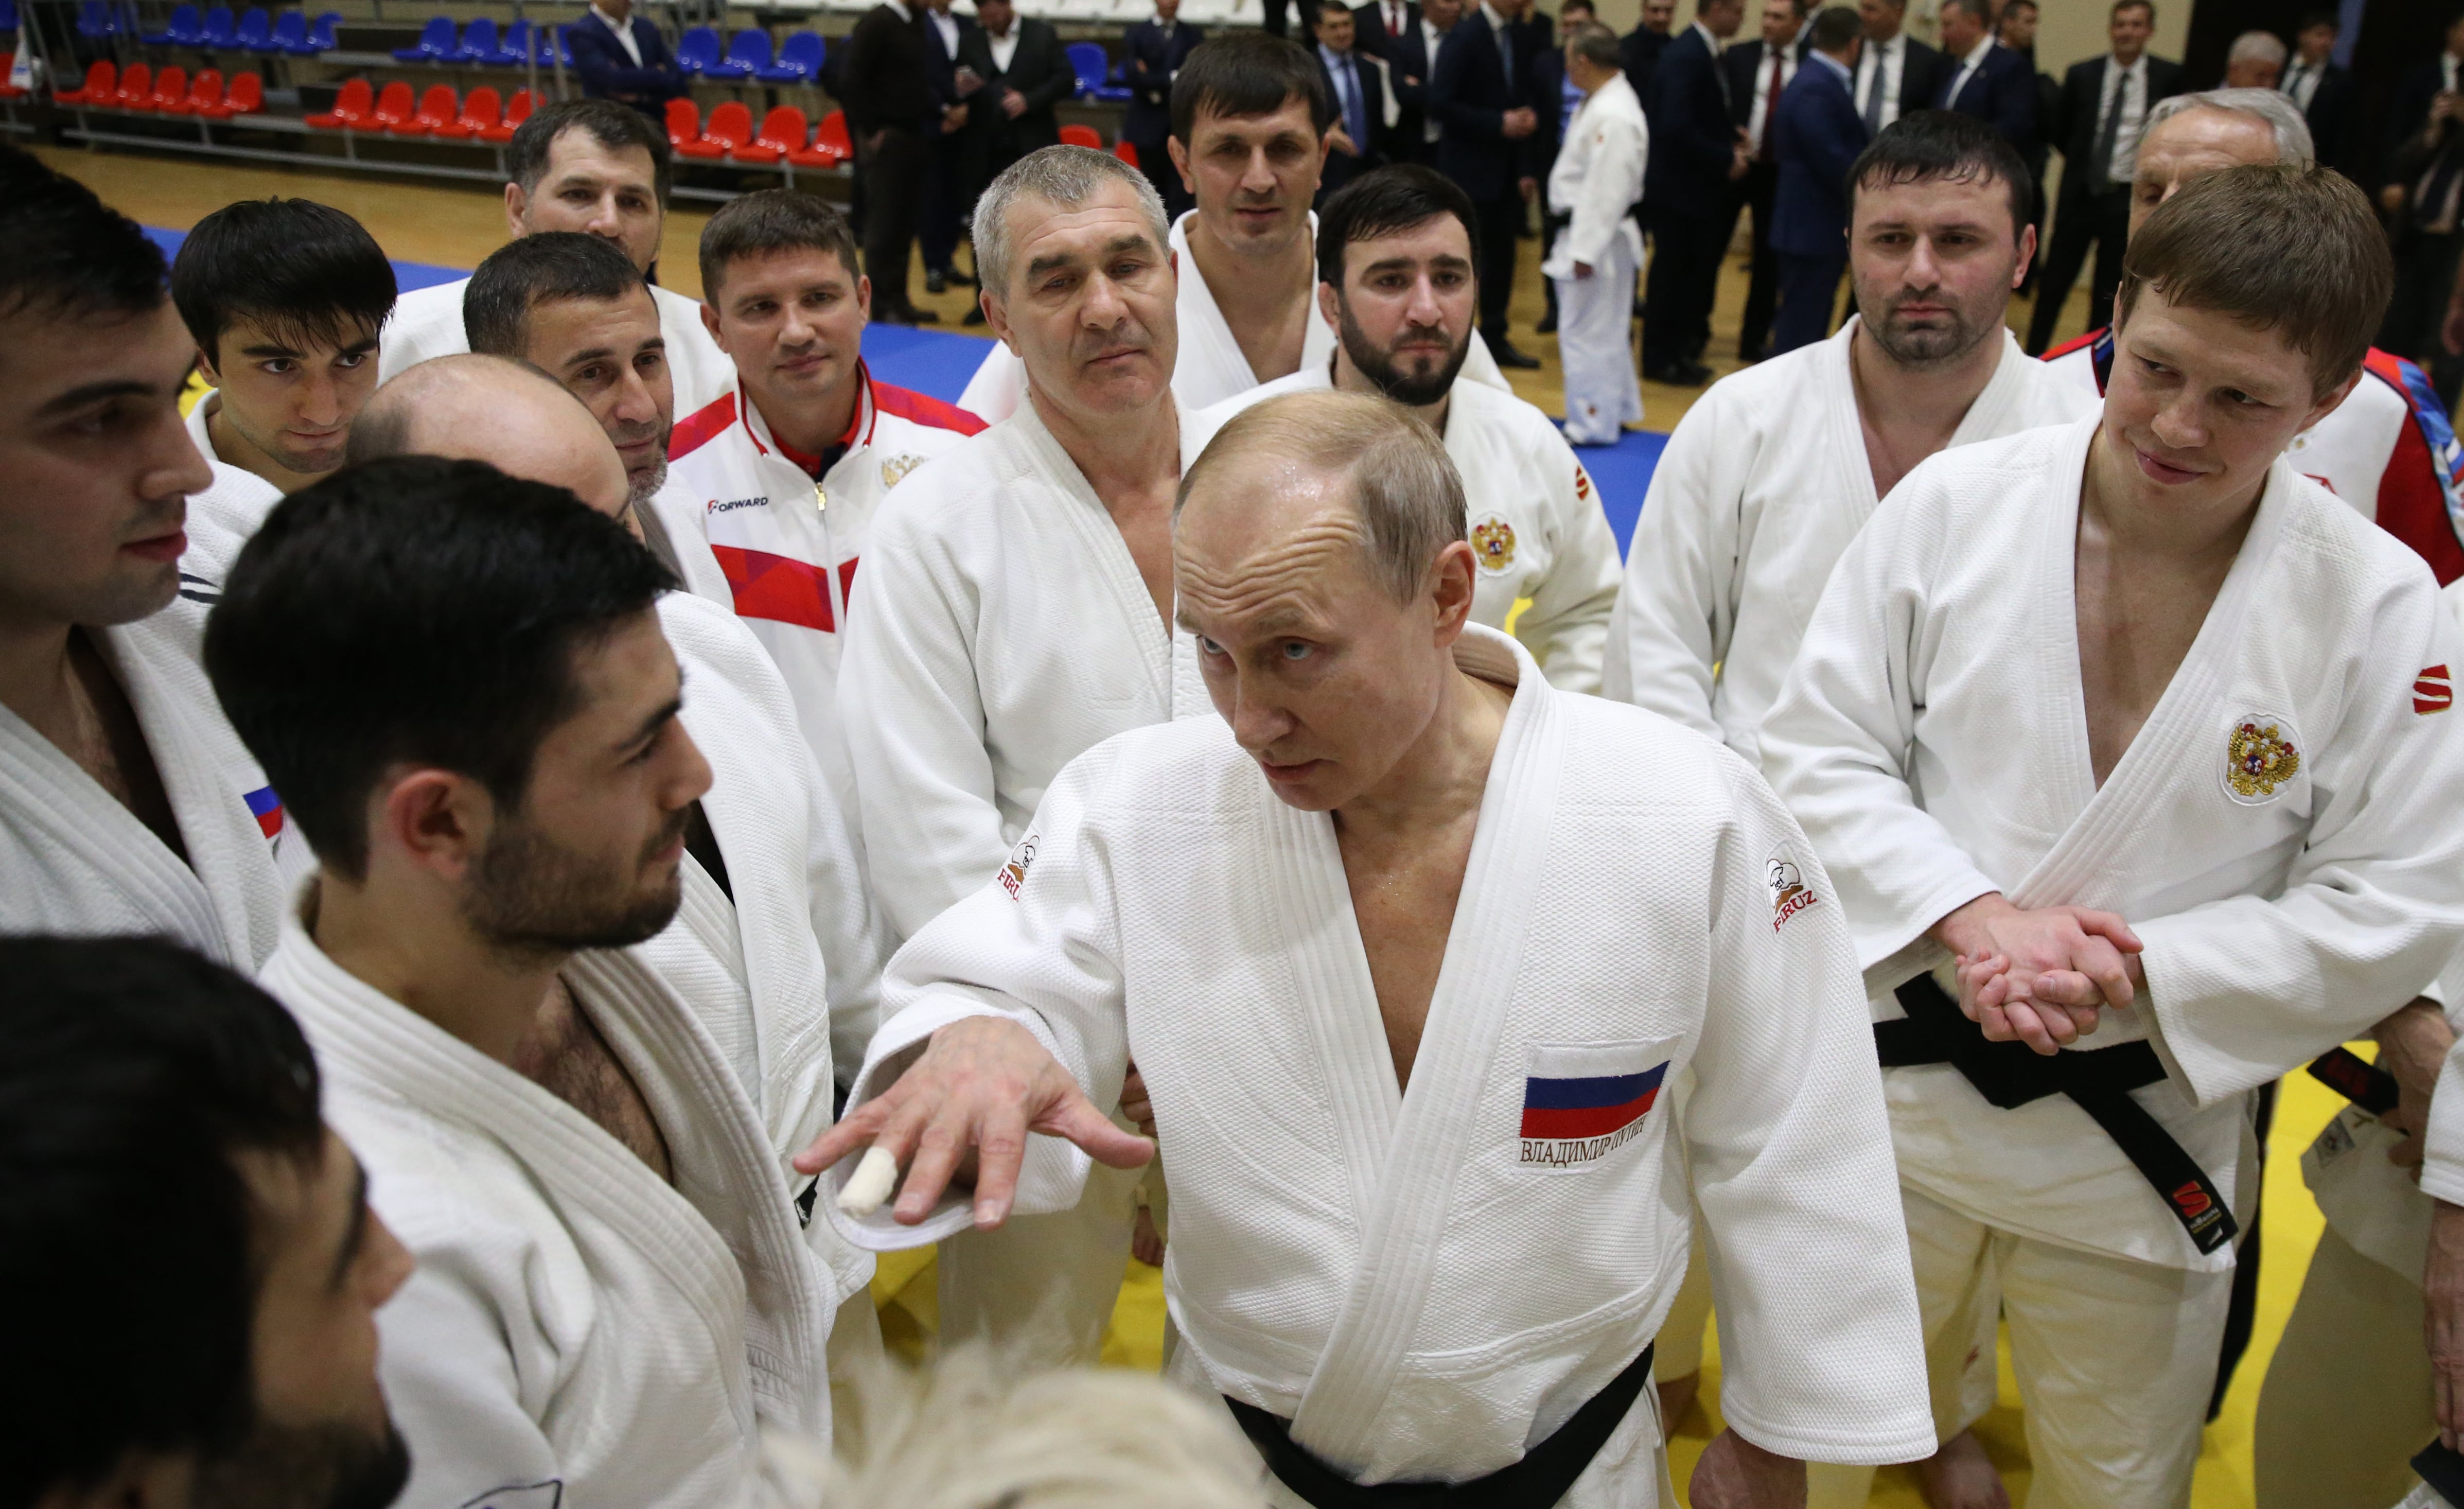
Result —
M 1720 1314 L 1720 1410 L 1809 1462 L 1934 1450 L 1882 1073 L 1814 846 L 1722 752 L 1735 794 L 1685 1149 Z

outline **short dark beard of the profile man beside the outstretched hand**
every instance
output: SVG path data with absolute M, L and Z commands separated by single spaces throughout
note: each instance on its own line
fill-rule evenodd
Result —
M 675 843 L 690 814 L 690 806 L 675 809 L 643 846 L 641 863 Z M 665 885 L 638 890 L 633 875 L 614 875 L 527 824 L 508 824 L 478 861 L 463 917 L 500 949 L 572 954 L 658 937 L 683 900 L 683 865 Z

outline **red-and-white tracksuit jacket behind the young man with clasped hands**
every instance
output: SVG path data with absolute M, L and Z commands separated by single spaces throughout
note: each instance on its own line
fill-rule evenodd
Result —
M 2114 333 L 2089 330 L 2045 360 L 2102 395 Z M 2296 434 L 2284 459 L 2410 545 L 2442 587 L 2464 577 L 2464 446 L 2430 377 L 2405 358 L 2373 345 L 2353 392 Z

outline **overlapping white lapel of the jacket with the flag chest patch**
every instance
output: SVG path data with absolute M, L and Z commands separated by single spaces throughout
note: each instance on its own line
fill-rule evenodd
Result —
M 1515 641 L 1481 626 L 1469 626 L 1454 653 L 1456 663 L 1476 676 L 1510 681 L 1515 698 L 1488 767 L 1471 863 L 1464 868 L 1461 900 L 1446 932 L 1446 957 L 1429 999 L 1412 1087 L 1402 1095 L 1395 1132 L 1375 1164 L 1375 1193 L 1363 1206 L 1368 1223 L 1360 1262 L 1291 1423 L 1291 1437 L 1331 1462 L 1363 1462 L 1372 1455 L 1380 1410 L 1419 1329 L 1437 1280 L 1454 1181 L 1471 1161 L 1473 1107 L 1498 1073 L 1496 1045 L 1513 1004 L 1513 981 L 1523 971 L 1530 907 L 1540 895 L 1557 819 L 1565 725 L 1540 668 Z M 1331 851 L 1331 821 L 1318 819 L 1318 824 Z M 1323 873 L 1323 865 L 1313 870 Z M 1340 888 L 1340 861 L 1333 865 L 1333 880 Z M 1340 895 L 1348 910 L 1348 893 Z M 1353 952 L 1360 957 L 1360 979 L 1353 989 L 1368 991 L 1370 1001 L 1360 1031 L 1375 1038 L 1372 1050 L 1385 1055 L 1375 991 L 1368 989 L 1368 957 L 1353 927 Z M 1345 1048 L 1360 1053 L 1358 1041 Z M 1395 1082 L 1390 1058 L 1382 1080 Z M 1355 1119 L 1365 1122 L 1358 1114 L 1345 1117 L 1348 1124 Z

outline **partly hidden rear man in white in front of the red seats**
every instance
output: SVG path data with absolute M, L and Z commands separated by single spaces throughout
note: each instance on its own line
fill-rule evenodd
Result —
M 505 229 L 582 232 L 623 247 L 648 276 L 668 227 L 668 138 L 611 99 L 567 99 L 532 111 L 505 148 Z M 414 288 L 394 306 L 377 350 L 377 380 L 411 362 L 471 350 L 461 301 L 471 279 Z M 675 402 L 690 412 L 727 390 L 727 358 L 702 330 L 702 306 L 650 284 L 668 340 Z

